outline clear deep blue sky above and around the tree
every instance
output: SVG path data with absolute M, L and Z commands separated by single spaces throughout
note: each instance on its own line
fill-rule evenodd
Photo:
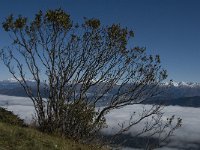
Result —
M 62 8 L 74 22 L 99 18 L 135 33 L 133 43 L 159 54 L 168 80 L 200 82 L 199 0 L 1 0 L 0 23 L 11 13 L 33 17 L 38 10 Z M 0 48 L 10 39 L 0 27 Z M 11 78 L 0 62 L 0 80 Z

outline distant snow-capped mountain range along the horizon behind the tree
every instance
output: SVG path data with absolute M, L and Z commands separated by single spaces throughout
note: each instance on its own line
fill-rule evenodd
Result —
M 36 93 L 37 89 L 36 89 L 35 82 L 33 80 L 27 80 L 27 83 L 32 87 L 33 93 Z M 131 85 L 129 84 L 128 86 L 131 86 Z M 119 86 L 116 85 L 116 87 L 113 88 L 113 90 L 109 93 L 109 95 L 115 94 L 118 87 Z M 91 88 L 89 91 L 90 94 L 98 91 L 98 88 L 101 88 L 101 86 L 96 86 L 96 87 Z M 196 100 L 199 97 L 199 102 L 200 102 L 200 84 L 199 83 L 170 81 L 170 82 L 165 82 L 161 84 L 158 90 L 161 91 L 161 94 L 150 100 L 177 101 L 176 99 L 180 99 L 180 98 L 187 99 L 189 97 L 190 98 L 195 97 L 194 99 L 196 102 Z M 15 79 L 0 81 L 0 94 L 10 95 L 10 96 L 23 96 L 23 97 L 27 96 L 26 93 L 24 92 L 24 89 Z M 174 104 L 174 101 L 173 101 L 173 104 Z

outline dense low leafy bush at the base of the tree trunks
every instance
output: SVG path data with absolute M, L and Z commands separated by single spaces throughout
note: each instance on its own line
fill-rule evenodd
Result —
M 59 112 L 59 119 L 54 115 L 49 118 L 51 120 L 45 120 L 43 128 L 46 132 L 87 142 L 93 139 L 100 129 L 106 127 L 106 119 L 103 117 L 97 122 L 99 113 L 84 100 L 64 104 Z M 40 126 L 38 128 L 43 131 Z

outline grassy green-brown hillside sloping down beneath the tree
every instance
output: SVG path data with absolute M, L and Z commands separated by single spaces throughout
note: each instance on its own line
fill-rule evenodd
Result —
M 98 150 L 97 146 L 78 144 L 50 136 L 35 129 L 0 122 L 0 150 Z

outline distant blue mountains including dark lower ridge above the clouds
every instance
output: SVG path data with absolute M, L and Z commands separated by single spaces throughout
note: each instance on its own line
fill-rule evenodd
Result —
M 36 83 L 32 80 L 27 80 L 27 83 L 31 86 L 33 94 L 35 94 L 37 90 Z M 118 87 L 119 86 L 116 85 L 107 96 L 112 96 L 116 93 Z M 80 85 L 77 89 L 78 88 L 80 88 Z M 98 88 L 101 88 L 101 85 L 90 89 L 88 95 L 92 95 L 93 92 L 98 91 Z M 145 102 L 146 104 L 162 103 L 165 105 L 200 107 L 200 83 L 171 81 L 161 84 L 158 90 L 161 91 L 161 94 L 153 99 L 148 99 Z M 44 91 L 42 91 L 42 93 L 44 93 Z M 22 97 L 27 96 L 23 87 L 14 79 L 0 81 L 0 94 Z

